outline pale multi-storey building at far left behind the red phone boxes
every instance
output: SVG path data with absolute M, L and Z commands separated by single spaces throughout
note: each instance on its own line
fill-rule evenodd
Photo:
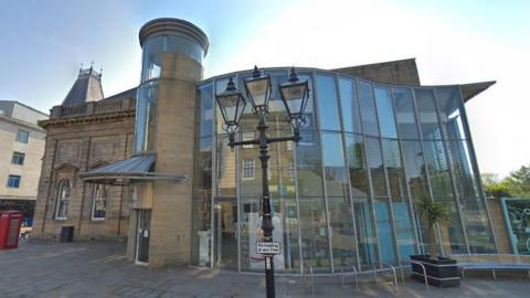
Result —
M 19 102 L 0 100 L 0 211 L 19 210 L 31 224 L 44 153 L 47 115 Z

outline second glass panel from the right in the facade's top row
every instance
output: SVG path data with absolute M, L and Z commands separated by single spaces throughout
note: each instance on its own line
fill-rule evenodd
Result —
M 426 140 L 442 139 L 433 91 L 415 89 L 414 93 L 416 95 L 416 105 L 420 111 L 420 124 L 422 126 L 423 138 Z

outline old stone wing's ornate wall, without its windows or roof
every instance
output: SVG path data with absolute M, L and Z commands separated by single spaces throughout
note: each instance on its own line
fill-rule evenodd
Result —
M 41 126 L 47 136 L 32 236 L 59 237 L 62 226 L 73 225 L 74 240 L 127 237 L 129 189 L 109 187 L 105 220 L 93 221 L 94 185 L 83 182 L 78 174 L 131 156 L 134 105 L 97 115 L 55 117 Z M 72 185 L 68 216 L 55 220 L 59 184 L 63 179 L 70 179 Z

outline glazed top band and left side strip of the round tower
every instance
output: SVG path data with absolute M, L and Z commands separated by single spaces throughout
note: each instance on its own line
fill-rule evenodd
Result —
M 148 36 L 142 45 L 141 81 L 137 95 L 135 152 L 155 150 L 157 127 L 158 81 L 162 71 L 162 53 L 179 53 L 202 63 L 204 50 L 198 41 L 179 32 L 160 32 Z

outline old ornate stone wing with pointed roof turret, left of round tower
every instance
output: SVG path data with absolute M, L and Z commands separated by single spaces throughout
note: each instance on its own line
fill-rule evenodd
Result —
M 39 123 L 46 131 L 46 146 L 35 237 L 57 237 L 62 226 L 74 226 L 76 240 L 127 237 L 127 189 L 84 183 L 80 178 L 80 172 L 132 152 L 136 88 L 104 98 L 100 79 L 92 67 L 80 70 L 62 105 Z

